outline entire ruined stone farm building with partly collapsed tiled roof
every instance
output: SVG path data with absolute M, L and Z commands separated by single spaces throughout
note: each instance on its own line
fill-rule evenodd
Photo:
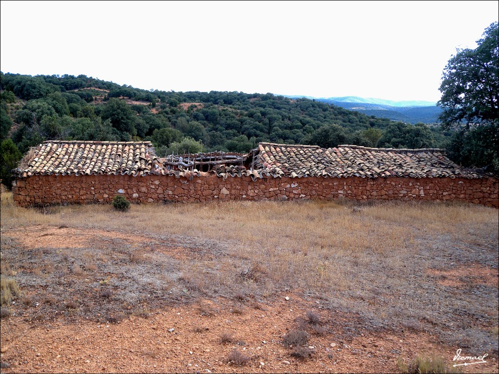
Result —
M 462 200 L 498 207 L 498 179 L 439 149 L 260 143 L 159 157 L 149 142 L 47 141 L 15 171 L 20 206 L 209 200 Z

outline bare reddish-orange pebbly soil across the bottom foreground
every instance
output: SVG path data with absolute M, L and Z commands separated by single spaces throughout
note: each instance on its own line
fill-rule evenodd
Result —
M 2 361 L 13 365 L 2 373 L 396 373 L 401 355 L 427 352 L 449 362 L 455 355 L 424 334 L 372 333 L 348 342 L 334 334 L 311 334 L 309 345 L 315 353 L 311 359 L 297 360 L 281 343 L 282 336 L 295 328 L 297 317 L 313 308 L 313 301 L 290 294 L 289 301 L 282 298 L 262 309 L 245 307 L 242 315 L 232 313 L 230 306 L 228 302 L 224 311 L 211 317 L 202 316 L 196 307 L 171 307 L 148 319 L 131 316 L 100 325 L 85 320 L 68 323 L 64 318 L 48 324 L 9 318 L 2 322 Z M 349 323 L 345 315 L 324 312 L 321 317 L 338 326 Z M 196 327 L 202 331 L 195 332 Z M 234 334 L 234 342 L 220 342 L 226 332 Z M 233 349 L 249 356 L 249 364 L 229 363 Z M 497 370 L 493 361 L 466 372 Z

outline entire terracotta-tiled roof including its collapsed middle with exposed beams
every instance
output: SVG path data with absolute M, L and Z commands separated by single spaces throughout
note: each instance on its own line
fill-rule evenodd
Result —
M 201 176 L 215 173 L 224 179 L 270 178 L 467 178 L 490 177 L 465 169 L 440 149 L 382 149 L 341 145 L 318 146 L 260 143 L 248 154 L 198 153 L 158 157 L 150 142 L 46 141 L 26 155 L 17 178 L 33 175 L 164 175 Z

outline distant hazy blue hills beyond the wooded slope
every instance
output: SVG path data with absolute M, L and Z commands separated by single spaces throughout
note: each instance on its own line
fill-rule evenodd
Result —
M 283 95 L 291 99 L 305 97 L 345 109 L 354 110 L 368 116 L 389 118 L 395 121 L 408 123 L 437 123 L 442 109 L 432 101 L 393 101 L 358 96 L 343 97 L 311 97 L 299 95 Z

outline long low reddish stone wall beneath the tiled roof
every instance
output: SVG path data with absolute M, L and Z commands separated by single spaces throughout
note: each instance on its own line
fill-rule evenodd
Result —
M 498 180 L 462 178 L 264 178 L 202 173 L 192 180 L 172 176 L 32 176 L 14 181 L 19 206 L 109 203 L 118 193 L 132 202 L 218 200 L 462 200 L 498 207 Z

